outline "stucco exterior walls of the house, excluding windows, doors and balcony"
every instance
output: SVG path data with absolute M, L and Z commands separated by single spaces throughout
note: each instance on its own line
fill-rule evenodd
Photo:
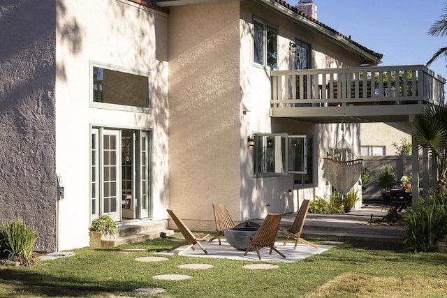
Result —
M 304 199 L 328 198 L 332 190 L 321 170 L 326 152 L 343 133 L 360 151 L 359 124 L 345 124 L 342 131 L 341 124 L 270 117 L 270 69 L 254 64 L 254 19 L 277 29 L 278 70 L 293 69 L 295 40 L 310 45 L 312 68 L 360 64 L 358 51 L 349 48 L 355 45 L 344 47 L 323 36 L 317 24 L 303 25 L 279 2 L 196 1 L 168 9 L 136 0 L 33 5 L 8 8 L 24 17 L 19 22 L 6 14 L 14 26 L 0 34 L 10 47 L 0 56 L 6 77 L 0 95 L 7 103 L 0 111 L 6 128 L 0 135 L 9 140 L 1 146 L 4 152 L 23 151 L 0 155 L 11 173 L 3 177 L 7 184 L 0 181 L 10 197 L 0 196 L 6 210 L 0 221 L 28 216 L 44 235 L 38 250 L 89 245 L 91 219 L 101 212 L 92 214 L 93 131 L 152 132 L 152 214 L 131 219 L 175 228 L 168 223 L 169 208 L 191 230 L 214 230 L 213 202 L 225 203 L 238 222 L 296 211 Z M 35 18 L 27 20 L 28 15 Z M 26 36 L 33 23 L 36 40 L 29 46 L 4 41 Z M 150 112 L 93 105 L 91 73 L 97 64 L 149 73 Z M 20 75 L 17 69 L 23 70 Z M 254 147 L 247 146 L 248 135 L 256 133 L 312 137 L 313 183 L 294 186 L 290 173 L 256 177 Z M 57 175 L 64 183 L 62 200 L 57 200 Z M 27 188 L 17 187 L 22 184 Z

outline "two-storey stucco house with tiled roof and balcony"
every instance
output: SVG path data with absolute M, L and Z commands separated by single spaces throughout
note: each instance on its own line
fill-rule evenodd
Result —
M 342 136 L 360 152 L 359 122 L 444 103 L 442 78 L 375 68 L 382 55 L 309 1 L 17 1 L 0 13 L 0 222 L 24 218 L 39 251 L 88 246 L 103 213 L 167 228 L 170 208 L 213 230 L 212 202 L 235 221 L 295 211 L 332 193 L 322 158 Z M 359 73 L 396 70 L 432 96 L 420 87 L 404 94 L 416 104 L 383 112 L 390 99 Z

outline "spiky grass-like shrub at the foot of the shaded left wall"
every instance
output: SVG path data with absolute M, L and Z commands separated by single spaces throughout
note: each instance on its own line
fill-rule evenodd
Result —
M 33 247 L 36 234 L 31 226 L 21 219 L 7 221 L 0 225 L 0 258 L 20 262 L 31 267 L 36 264 Z

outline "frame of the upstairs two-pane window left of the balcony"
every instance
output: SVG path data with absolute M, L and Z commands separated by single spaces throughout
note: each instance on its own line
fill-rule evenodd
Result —
M 258 38 L 256 38 L 256 25 L 261 25 L 263 28 L 263 39 L 262 39 L 262 46 L 256 46 L 256 41 Z M 269 70 L 277 70 L 278 69 L 278 27 L 274 24 L 270 24 L 269 22 L 265 22 L 264 20 L 261 20 L 258 17 L 253 18 L 253 64 L 258 67 L 266 68 Z M 269 33 L 274 33 L 275 38 L 272 40 L 272 43 L 274 43 L 275 51 L 272 52 L 272 56 L 276 56 L 274 64 L 269 65 Z M 262 50 L 262 57 L 258 57 L 256 53 L 258 50 Z M 258 58 L 258 59 L 256 59 Z M 262 58 L 262 63 L 259 62 L 259 58 Z

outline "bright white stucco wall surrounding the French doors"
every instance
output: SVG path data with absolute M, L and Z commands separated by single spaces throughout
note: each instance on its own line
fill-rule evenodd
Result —
M 90 128 L 153 131 L 154 220 L 168 207 L 168 16 L 131 1 L 59 1 L 57 15 L 57 173 L 59 249 L 89 245 Z M 151 73 L 152 112 L 90 107 L 90 62 Z

